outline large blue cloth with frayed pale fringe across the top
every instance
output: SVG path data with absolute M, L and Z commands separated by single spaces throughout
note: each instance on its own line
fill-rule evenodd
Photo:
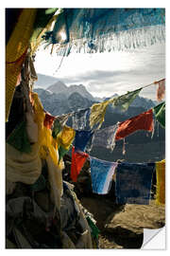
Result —
M 46 44 L 59 44 L 57 52 L 62 56 L 74 51 L 131 50 L 164 41 L 164 24 L 164 8 L 63 9 L 44 40 Z

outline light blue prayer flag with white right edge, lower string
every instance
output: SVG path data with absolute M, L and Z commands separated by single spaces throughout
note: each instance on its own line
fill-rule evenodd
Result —
M 108 193 L 117 163 L 100 160 L 92 156 L 90 156 L 90 160 L 93 192 Z

